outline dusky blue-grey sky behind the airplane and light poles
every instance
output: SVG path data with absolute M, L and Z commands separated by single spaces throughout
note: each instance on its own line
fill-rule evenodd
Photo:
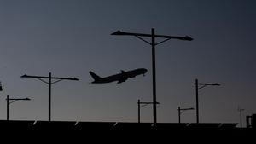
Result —
M 30 97 L 10 107 L 10 119 L 46 120 L 47 85 L 23 74 L 77 77 L 53 86 L 53 120 L 137 121 L 137 99 L 152 100 L 151 49 L 112 32 L 185 36 L 156 49 L 160 122 L 177 122 L 177 107 L 195 107 L 195 78 L 222 84 L 200 92 L 202 122 L 239 122 L 256 112 L 256 2 L 253 0 L 0 0 L 0 118 L 5 96 Z M 108 76 L 147 68 L 124 84 L 89 84 L 89 71 Z M 195 122 L 185 112 L 184 122 Z M 152 121 L 152 107 L 142 120 Z

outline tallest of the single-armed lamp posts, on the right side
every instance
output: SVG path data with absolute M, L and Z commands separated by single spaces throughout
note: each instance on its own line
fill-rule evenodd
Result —
M 196 123 L 199 123 L 199 102 L 198 102 L 198 91 L 206 86 L 220 86 L 218 83 L 198 83 L 198 79 L 195 79 L 195 96 L 196 96 Z M 199 87 L 201 86 L 201 87 Z

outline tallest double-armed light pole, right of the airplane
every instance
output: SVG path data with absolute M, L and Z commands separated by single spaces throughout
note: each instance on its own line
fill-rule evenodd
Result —
M 154 124 L 157 123 L 157 115 L 156 115 L 156 78 L 155 78 L 155 46 L 164 43 L 170 39 L 178 39 L 178 40 L 185 40 L 185 41 L 192 41 L 193 39 L 189 36 L 186 37 L 173 37 L 173 36 L 164 36 L 164 35 L 156 35 L 154 33 L 154 28 L 151 29 L 150 34 L 145 34 L 145 33 L 131 33 L 131 32 L 113 32 L 111 35 L 116 35 L 116 36 L 134 36 L 137 37 L 138 39 L 142 40 L 145 43 L 148 43 L 152 47 L 152 80 L 153 80 L 153 121 Z M 143 39 L 143 37 L 150 37 L 151 42 L 148 42 L 147 40 Z M 159 43 L 155 42 L 155 38 L 164 38 L 164 40 L 160 41 Z

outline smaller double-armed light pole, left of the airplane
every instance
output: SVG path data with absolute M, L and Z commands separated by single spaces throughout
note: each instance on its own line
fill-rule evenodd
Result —
M 44 82 L 45 84 L 48 84 L 49 86 L 49 118 L 48 121 L 51 121 L 51 85 L 58 83 L 62 80 L 76 80 L 78 81 L 78 78 L 60 78 L 60 77 L 52 77 L 51 76 L 51 72 L 49 72 L 49 76 L 48 77 L 44 77 L 44 76 L 28 76 L 28 75 L 23 75 L 21 76 L 21 78 L 38 78 L 40 81 Z M 44 79 L 48 79 L 48 82 L 45 81 Z M 55 80 L 55 82 L 52 82 L 52 80 Z

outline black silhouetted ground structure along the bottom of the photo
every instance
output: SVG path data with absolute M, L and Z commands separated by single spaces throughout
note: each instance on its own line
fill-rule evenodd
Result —
M 254 128 L 238 128 L 233 123 L 125 123 L 75 121 L 0 120 L 3 138 L 27 142 L 54 140 L 61 143 L 206 143 L 251 141 Z M 14 137 L 19 137 L 14 139 Z M 31 140 L 31 139 L 29 139 Z M 33 141 L 34 142 L 34 141 Z M 90 143 L 90 142 L 89 142 Z

